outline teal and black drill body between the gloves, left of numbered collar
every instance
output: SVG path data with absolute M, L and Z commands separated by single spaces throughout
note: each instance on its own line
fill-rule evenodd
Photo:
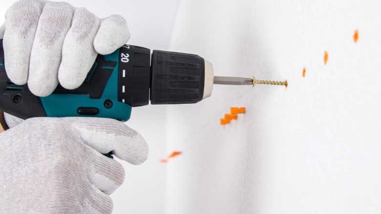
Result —
M 148 75 L 149 54 L 148 50 Z M 37 97 L 26 84 L 18 86 L 9 80 L 0 40 L 0 109 L 21 119 L 45 116 L 105 117 L 127 121 L 131 115 L 131 105 L 120 102 L 118 97 L 120 60 L 119 49 L 106 56 L 98 55 L 82 86 L 68 90 L 59 85 L 51 95 Z

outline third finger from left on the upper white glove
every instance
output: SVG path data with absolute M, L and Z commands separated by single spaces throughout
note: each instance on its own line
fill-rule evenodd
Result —
M 75 89 L 85 81 L 97 58 L 94 37 L 100 20 L 85 8 L 77 8 L 62 48 L 62 62 L 58 71 L 61 86 Z

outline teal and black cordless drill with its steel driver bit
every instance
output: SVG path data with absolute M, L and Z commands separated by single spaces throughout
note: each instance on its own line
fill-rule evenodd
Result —
M 127 121 L 131 108 L 157 104 L 197 103 L 212 94 L 213 84 L 255 85 L 255 79 L 214 77 L 212 64 L 186 53 L 124 45 L 98 55 L 82 86 L 57 86 L 37 97 L 27 85 L 18 86 L 6 75 L 0 40 L 0 109 L 21 119 L 31 117 L 105 117 Z

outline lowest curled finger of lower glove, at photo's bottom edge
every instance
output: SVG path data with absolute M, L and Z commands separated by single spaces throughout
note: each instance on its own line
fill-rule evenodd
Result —
M 88 197 L 84 198 L 83 202 L 83 211 L 81 213 L 89 213 L 89 214 L 111 214 L 113 209 L 113 202 L 111 197 L 98 190 L 94 185 L 90 185 L 90 187 L 86 187 L 89 189 L 87 195 Z

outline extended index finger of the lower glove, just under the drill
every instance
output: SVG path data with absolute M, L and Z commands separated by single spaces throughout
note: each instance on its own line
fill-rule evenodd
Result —
M 110 151 L 119 159 L 139 165 L 147 160 L 148 145 L 143 137 L 123 122 L 108 118 L 73 118 L 85 144 L 103 154 Z

